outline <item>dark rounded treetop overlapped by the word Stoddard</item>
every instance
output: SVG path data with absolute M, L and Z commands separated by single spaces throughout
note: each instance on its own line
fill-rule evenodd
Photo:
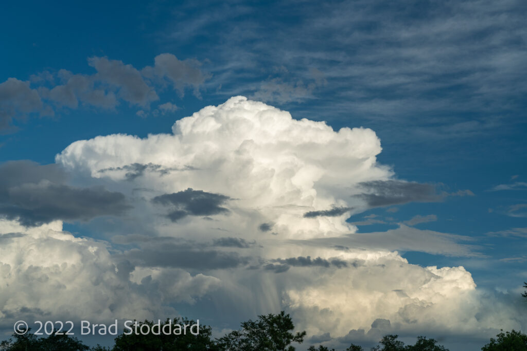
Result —
M 145 320 L 139 323 L 139 326 L 146 324 L 149 326 L 149 330 L 156 324 Z M 164 323 L 160 324 L 162 330 L 163 326 L 170 325 L 170 319 L 165 320 Z M 194 320 L 187 318 L 175 318 L 172 321 L 172 329 L 177 328 L 180 325 L 195 325 Z M 156 328 L 157 329 L 157 328 Z M 141 330 L 140 327 L 138 330 Z M 157 330 L 156 330 L 157 333 Z M 169 333 L 167 333 L 169 334 Z M 155 335 L 153 333 L 142 334 L 135 332 L 131 334 L 121 334 L 115 338 L 115 345 L 112 351 L 216 351 L 218 350 L 216 343 L 211 339 L 212 329 L 209 326 L 199 325 L 198 335 L 191 334 L 188 330 L 187 333 L 181 333 L 179 335 L 173 332 L 167 335 L 165 333 L 159 333 Z

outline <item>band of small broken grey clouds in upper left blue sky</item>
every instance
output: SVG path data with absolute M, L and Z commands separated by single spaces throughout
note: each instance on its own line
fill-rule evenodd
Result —
M 55 111 L 81 105 L 113 109 L 124 101 L 149 109 L 152 102 L 159 101 L 157 91 L 170 85 L 183 96 L 190 86 L 194 95 L 199 96 L 199 87 L 208 78 L 199 68 L 199 61 L 179 60 L 168 53 L 156 56 L 154 66 L 141 71 L 108 57 L 90 57 L 88 64 L 95 74 L 74 74 L 60 69 L 53 74 L 33 75 L 31 83 L 16 78 L 0 83 L 0 131 L 8 131 L 15 119 L 31 113 L 54 115 Z M 159 108 L 161 112 L 173 111 L 175 105 L 164 103 Z

